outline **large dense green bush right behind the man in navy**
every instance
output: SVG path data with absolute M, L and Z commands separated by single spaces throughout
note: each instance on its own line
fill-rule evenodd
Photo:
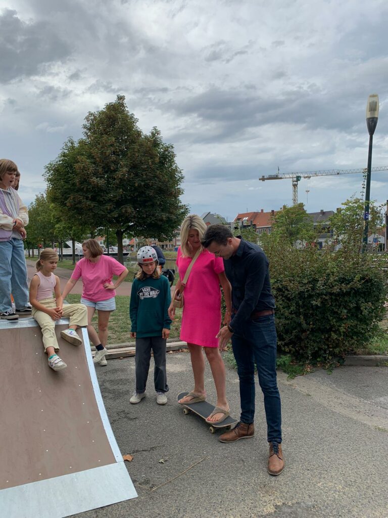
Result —
M 375 256 L 297 249 L 279 240 L 265 245 L 280 353 L 331 365 L 376 336 L 387 285 Z

